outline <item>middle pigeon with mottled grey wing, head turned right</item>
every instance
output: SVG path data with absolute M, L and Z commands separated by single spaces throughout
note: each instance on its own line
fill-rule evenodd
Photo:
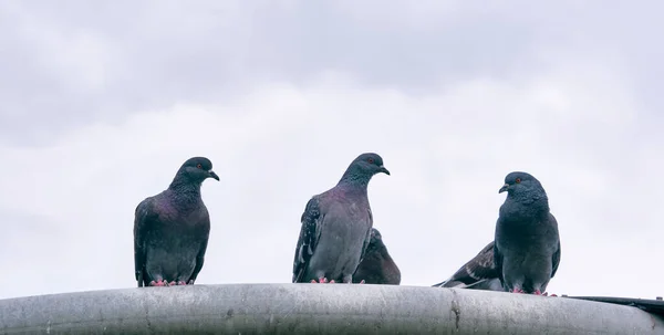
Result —
M 293 261 L 293 283 L 353 282 L 370 242 L 373 217 L 366 187 L 378 172 L 390 175 L 377 154 L 362 154 L 335 187 L 313 196 L 302 218 Z

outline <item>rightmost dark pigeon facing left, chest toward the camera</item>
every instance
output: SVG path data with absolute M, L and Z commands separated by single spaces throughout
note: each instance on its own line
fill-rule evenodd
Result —
M 498 191 L 500 206 L 494 262 L 508 292 L 542 294 L 560 263 L 558 222 L 542 185 L 526 172 L 511 172 Z

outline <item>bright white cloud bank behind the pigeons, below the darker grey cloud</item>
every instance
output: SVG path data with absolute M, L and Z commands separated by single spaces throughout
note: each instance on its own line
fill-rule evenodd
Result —
M 647 213 L 664 196 L 664 163 L 653 156 L 662 138 L 634 137 L 650 119 L 634 113 L 629 83 L 593 63 L 419 96 L 326 73 L 228 104 L 136 112 L 42 148 L 0 147 L 12 163 L 0 166 L 0 208 L 52 224 L 42 233 L 10 217 L 0 250 L 15 257 L 0 268 L 20 274 L 0 279 L 0 296 L 134 286 L 134 208 L 198 155 L 221 177 L 204 185 L 212 230 L 199 283 L 289 282 L 309 197 L 376 151 L 392 176 L 374 178 L 370 200 L 403 284 L 434 284 L 475 255 L 492 238 L 502 178 L 527 170 L 549 192 L 562 235 L 549 291 L 653 297 L 664 272 L 651 262 L 664 250 Z M 634 284 L 624 285 L 627 274 Z

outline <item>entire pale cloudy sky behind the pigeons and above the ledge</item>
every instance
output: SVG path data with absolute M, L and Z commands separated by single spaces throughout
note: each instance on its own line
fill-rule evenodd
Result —
M 505 175 L 544 186 L 549 292 L 664 295 L 664 2 L 1 1 L 0 297 L 134 287 L 136 205 L 189 157 L 198 284 L 291 280 L 300 216 L 378 153 L 404 285 L 494 238 Z

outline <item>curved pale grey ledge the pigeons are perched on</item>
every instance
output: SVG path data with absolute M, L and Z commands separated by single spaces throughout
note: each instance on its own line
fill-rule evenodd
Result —
M 635 307 L 347 284 L 145 287 L 0 300 L 2 334 L 664 334 Z

